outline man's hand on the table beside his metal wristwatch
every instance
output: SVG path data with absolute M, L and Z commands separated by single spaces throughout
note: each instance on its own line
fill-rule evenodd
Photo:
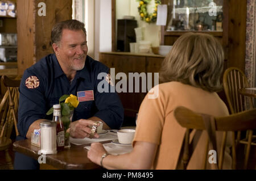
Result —
M 73 138 L 85 138 L 90 136 L 90 132 L 92 131 L 93 123 L 97 123 L 96 121 L 88 120 L 88 119 L 80 119 L 74 121 L 70 124 L 70 135 Z M 100 125 L 98 123 L 98 125 Z M 95 138 L 100 137 L 96 132 L 94 134 Z

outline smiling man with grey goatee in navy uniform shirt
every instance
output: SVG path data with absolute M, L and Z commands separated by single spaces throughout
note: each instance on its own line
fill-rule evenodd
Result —
M 49 54 L 28 68 L 20 83 L 18 130 L 16 140 L 31 137 L 40 122 L 52 119 L 46 112 L 59 104 L 64 94 L 85 96 L 73 114 L 70 134 L 74 138 L 89 137 L 96 121 L 104 123 L 104 129 L 119 129 L 123 121 L 123 107 L 116 92 L 101 92 L 98 83 L 108 81 L 109 68 L 87 55 L 88 47 L 84 23 L 67 20 L 57 23 L 51 32 L 52 48 Z M 106 77 L 98 79 L 98 74 Z M 86 92 L 93 96 L 86 96 Z M 94 137 L 98 137 L 95 133 Z M 38 169 L 38 161 L 15 153 L 15 169 Z

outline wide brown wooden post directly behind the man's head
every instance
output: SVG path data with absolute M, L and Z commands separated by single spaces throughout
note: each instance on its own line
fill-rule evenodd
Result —
M 39 2 L 46 3 L 46 16 L 39 16 Z M 52 53 L 51 29 L 57 22 L 72 19 L 72 0 L 17 1 L 18 74 Z

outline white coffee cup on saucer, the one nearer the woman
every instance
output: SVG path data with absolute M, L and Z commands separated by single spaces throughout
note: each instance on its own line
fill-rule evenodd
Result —
M 131 144 L 133 142 L 134 129 L 120 129 L 117 132 L 118 142 L 121 144 Z

